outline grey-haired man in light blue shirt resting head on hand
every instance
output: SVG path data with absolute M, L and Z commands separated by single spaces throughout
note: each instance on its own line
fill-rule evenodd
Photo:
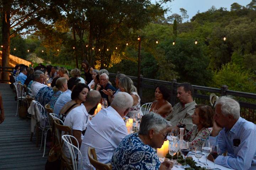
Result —
M 226 96 L 220 97 L 214 120 L 209 140 L 212 144 L 218 143 L 220 154 L 228 152 L 227 156 L 219 155 L 215 163 L 237 170 L 255 170 L 256 125 L 240 117 L 239 103 Z

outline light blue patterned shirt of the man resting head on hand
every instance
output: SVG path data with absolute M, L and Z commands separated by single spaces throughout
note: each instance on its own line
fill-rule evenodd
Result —
M 228 151 L 227 156 L 219 155 L 216 158 L 216 164 L 237 170 L 256 169 L 256 125 L 254 123 L 240 117 L 230 130 L 223 128 L 217 137 L 210 136 L 209 140 L 211 143 L 218 142 L 221 153 Z

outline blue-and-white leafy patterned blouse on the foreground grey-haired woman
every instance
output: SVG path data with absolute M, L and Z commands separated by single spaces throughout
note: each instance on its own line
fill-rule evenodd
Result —
M 126 136 L 111 160 L 113 170 L 158 170 L 160 161 L 153 148 L 145 145 L 138 133 Z

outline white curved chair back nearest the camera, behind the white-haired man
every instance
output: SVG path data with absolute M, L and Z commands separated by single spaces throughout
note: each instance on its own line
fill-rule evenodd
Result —
M 78 167 L 79 167 L 79 169 L 81 169 L 82 154 L 79 151 L 78 140 L 74 136 L 71 136 L 71 135 L 63 135 L 62 140 L 65 142 L 66 146 L 68 146 L 68 148 L 69 148 L 71 162 L 72 162 L 72 165 L 73 165 L 73 170 L 78 170 Z M 76 160 L 77 154 L 81 158 L 79 162 Z

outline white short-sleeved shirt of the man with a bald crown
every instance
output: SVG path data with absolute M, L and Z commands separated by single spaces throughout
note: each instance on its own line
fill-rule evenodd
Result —
M 69 126 L 72 130 L 84 131 L 89 121 L 89 114 L 87 113 L 84 104 L 81 104 L 69 112 L 64 120 L 64 126 Z M 64 135 L 64 133 L 62 133 L 62 135 Z M 63 151 L 68 157 L 69 149 L 67 146 L 63 145 Z

